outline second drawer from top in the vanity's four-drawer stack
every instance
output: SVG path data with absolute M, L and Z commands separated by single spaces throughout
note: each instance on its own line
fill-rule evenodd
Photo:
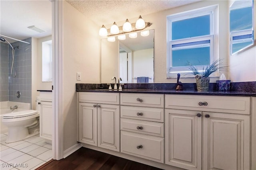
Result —
M 121 106 L 121 117 L 145 121 L 164 122 L 164 109 Z

